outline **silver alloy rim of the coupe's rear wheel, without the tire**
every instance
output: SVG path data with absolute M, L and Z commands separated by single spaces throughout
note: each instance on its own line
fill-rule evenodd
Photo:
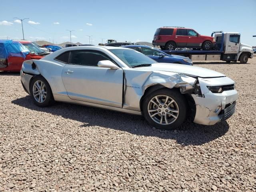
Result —
M 44 82 L 38 80 L 33 85 L 33 96 L 38 103 L 46 100 L 47 92 Z

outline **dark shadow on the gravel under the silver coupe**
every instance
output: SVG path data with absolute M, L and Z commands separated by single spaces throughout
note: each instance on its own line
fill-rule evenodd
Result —
M 229 125 L 226 121 L 213 126 L 204 126 L 187 120 L 177 130 L 159 130 L 149 126 L 142 116 L 121 112 L 61 102 L 56 102 L 56 104 L 51 107 L 40 108 L 33 103 L 30 96 L 18 98 L 13 100 L 12 103 L 30 110 L 46 112 L 54 116 L 61 116 L 62 118 L 82 122 L 83 125 L 80 127 L 101 126 L 136 135 L 152 136 L 161 139 L 175 139 L 178 144 L 184 146 L 208 143 L 220 138 L 226 134 L 229 129 Z

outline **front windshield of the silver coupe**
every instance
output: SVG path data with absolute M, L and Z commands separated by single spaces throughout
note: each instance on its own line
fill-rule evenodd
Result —
M 115 54 L 129 67 L 134 67 L 141 64 L 157 63 L 155 60 L 152 60 L 144 54 L 132 49 L 110 49 L 109 51 Z

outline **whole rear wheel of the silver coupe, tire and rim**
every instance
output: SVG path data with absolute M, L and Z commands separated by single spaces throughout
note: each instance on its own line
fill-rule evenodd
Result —
M 47 107 L 54 103 L 52 90 L 46 79 L 36 76 L 30 83 L 30 96 L 33 102 L 40 107 Z

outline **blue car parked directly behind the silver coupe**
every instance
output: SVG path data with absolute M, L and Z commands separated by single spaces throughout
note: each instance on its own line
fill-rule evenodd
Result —
M 159 49 L 156 49 L 150 46 L 126 45 L 122 47 L 134 49 L 160 63 L 178 63 L 178 64 L 184 64 L 184 65 L 193 65 L 192 60 L 189 58 L 186 58 L 184 56 L 179 56 L 179 55 L 169 55 L 165 52 L 162 52 Z

